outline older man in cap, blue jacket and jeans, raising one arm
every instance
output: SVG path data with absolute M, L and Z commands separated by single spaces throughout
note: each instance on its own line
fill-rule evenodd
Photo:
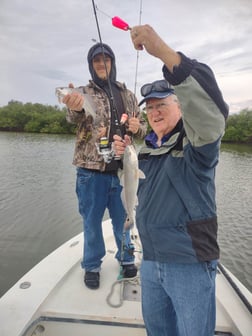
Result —
M 140 102 L 152 128 L 139 153 L 145 179 L 136 211 L 147 333 L 213 336 L 215 169 L 228 108 L 207 65 L 171 49 L 149 25 L 132 28 L 131 38 L 164 63 L 165 78 L 145 84 Z M 123 154 L 130 139 L 114 140 Z

